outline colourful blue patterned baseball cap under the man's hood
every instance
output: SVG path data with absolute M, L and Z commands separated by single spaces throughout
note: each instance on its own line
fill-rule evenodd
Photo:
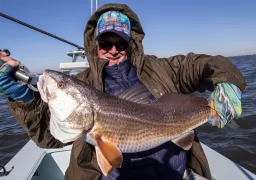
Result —
M 119 11 L 107 11 L 103 13 L 96 27 L 96 38 L 106 32 L 113 32 L 121 36 L 124 40 L 131 39 L 131 24 L 129 18 Z

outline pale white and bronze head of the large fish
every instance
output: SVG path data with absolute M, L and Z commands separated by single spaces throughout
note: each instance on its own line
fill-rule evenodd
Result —
M 93 126 L 93 113 L 85 94 L 85 85 L 67 74 L 45 70 L 37 87 L 48 104 L 51 134 L 62 142 L 75 140 Z

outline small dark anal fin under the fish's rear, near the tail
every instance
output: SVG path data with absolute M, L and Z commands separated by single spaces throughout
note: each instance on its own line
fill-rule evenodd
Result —
M 182 149 L 188 151 L 192 147 L 192 142 L 195 138 L 194 130 L 188 131 L 182 134 L 177 139 L 174 139 L 172 142 Z

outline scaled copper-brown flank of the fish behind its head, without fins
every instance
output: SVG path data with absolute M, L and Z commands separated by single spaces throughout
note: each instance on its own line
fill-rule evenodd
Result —
M 94 132 L 104 134 L 122 152 L 144 151 L 174 139 L 209 116 L 206 106 L 159 107 L 100 95 L 94 102 Z M 168 138 L 169 137 L 169 138 Z

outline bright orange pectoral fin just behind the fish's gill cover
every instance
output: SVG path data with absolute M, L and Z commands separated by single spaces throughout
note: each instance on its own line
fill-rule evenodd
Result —
M 123 155 L 118 147 L 114 143 L 105 140 L 100 135 L 95 135 L 95 141 L 106 161 L 108 161 L 111 166 L 120 168 L 123 163 Z

